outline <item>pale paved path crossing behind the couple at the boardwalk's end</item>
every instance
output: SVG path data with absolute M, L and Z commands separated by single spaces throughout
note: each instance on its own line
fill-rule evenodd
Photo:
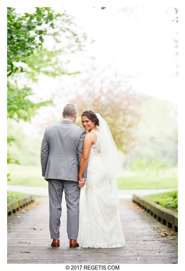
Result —
M 178 188 L 168 188 L 168 189 L 125 189 L 119 190 L 120 199 L 131 199 L 133 194 L 137 195 L 151 195 L 156 193 L 163 193 L 168 191 L 177 190 Z M 23 186 L 23 185 L 8 185 L 8 191 L 20 192 L 24 194 L 33 194 L 40 196 L 48 196 L 48 187 L 36 187 L 36 186 Z M 85 190 L 81 190 L 81 196 L 83 196 Z

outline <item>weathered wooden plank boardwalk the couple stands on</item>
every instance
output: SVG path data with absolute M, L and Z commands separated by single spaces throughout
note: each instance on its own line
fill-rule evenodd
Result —
M 123 248 L 82 248 L 80 199 L 79 248 L 69 248 L 66 205 L 63 196 L 60 246 L 52 247 L 49 199 L 36 198 L 31 206 L 8 217 L 9 264 L 173 264 L 178 263 L 178 234 L 162 225 L 131 199 L 120 199 L 120 218 L 126 244 Z M 164 232 L 167 232 L 164 234 Z M 156 236 L 157 235 L 157 236 Z M 163 236 L 167 235 L 167 236 Z

